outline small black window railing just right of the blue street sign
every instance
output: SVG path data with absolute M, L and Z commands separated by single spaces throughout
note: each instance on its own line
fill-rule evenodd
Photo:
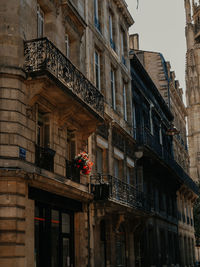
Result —
M 53 172 L 54 156 L 54 150 L 35 145 L 35 165 L 37 167 Z

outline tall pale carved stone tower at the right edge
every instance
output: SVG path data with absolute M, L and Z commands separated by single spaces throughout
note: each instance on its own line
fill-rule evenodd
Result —
M 186 11 L 186 100 L 188 113 L 188 142 L 190 174 L 195 181 L 200 179 L 200 92 L 199 92 L 199 15 L 197 1 L 185 0 Z M 191 15 L 193 14 L 193 16 Z

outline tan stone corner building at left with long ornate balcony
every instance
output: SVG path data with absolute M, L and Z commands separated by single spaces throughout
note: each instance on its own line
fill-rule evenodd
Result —
M 88 4 L 0 5 L 0 266 L 88 266 L 93 196 L 71 162 L 104 116 Z

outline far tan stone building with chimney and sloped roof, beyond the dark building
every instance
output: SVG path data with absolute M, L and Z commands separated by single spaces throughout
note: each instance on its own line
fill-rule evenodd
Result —
M 168 108 L 173 114 L 174 120 L 171 127 L 176 133 L 173 135 L 173 158 L 181 167 L 183 177 L 189 173 L 189 154 L 186 139 L 186 107 L 183 103 L 183 91 L 179 82 L 175 79 L 175 72 L 171 71 L 169 62 L 166 62 L 163 55 L 158 52 L 141 51 L 138 46 L 138 36 L 130 38 L 131 47 L 151 76 L 160 94 L 165 100 Z M 185 174 L 184 174 L 185 173 Z M 185 177 L 186 177 L 185 176 Z M 189 176 L 188 176 L 189 177 Z M 183 178 L 184 179 L 184 178 Z M 193 204 L 197 198 L 190 187 L 182 185 L 177 190 L 178 207 L 178 232 L 179 248 L 181 251 L 180 262 L 182 265 L 189 265 L 194 260 L 194 220 Z

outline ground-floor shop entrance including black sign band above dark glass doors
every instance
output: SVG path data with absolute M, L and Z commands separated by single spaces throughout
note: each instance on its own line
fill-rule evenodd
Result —
M 34 266 L 75 267 L 74 217 L 81 203 L 29 189 L 34 207 Z

